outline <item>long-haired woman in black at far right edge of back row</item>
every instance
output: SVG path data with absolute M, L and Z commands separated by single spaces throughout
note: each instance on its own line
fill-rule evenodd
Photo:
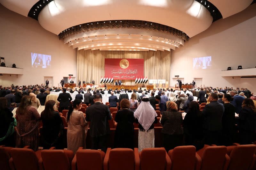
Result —
M 256 130 L 256 108 L 252 99 L 244 99 L 238 120 L 240 144 L 252 144 Z

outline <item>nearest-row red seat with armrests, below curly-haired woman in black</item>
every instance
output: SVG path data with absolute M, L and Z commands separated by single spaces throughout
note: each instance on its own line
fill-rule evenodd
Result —
M 138 148 L 108 148 L 103 161 L 104 170 L 139 170 L 140 158 Z

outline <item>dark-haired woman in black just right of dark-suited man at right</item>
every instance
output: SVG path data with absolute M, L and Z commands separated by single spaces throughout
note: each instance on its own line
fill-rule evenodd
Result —
M 230 146 L 234 142 L 236 133 L 236 107 L 230 103 L 234 98 L 230 94 L 224 94 L 222 101 L 224 102 L 224 113 L 222 115 L 222 144 Z

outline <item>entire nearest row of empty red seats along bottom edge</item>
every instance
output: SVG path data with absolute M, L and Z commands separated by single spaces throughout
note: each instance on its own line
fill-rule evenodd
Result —
M 69 150 L 39 150 L 0 146 L 1 169 L 33 170 L 250 170 L 256 168 L 256 146 L 209 146 L 196 152 L 194 146 L 178 146 L 168 153 L 164 148 L 79 148 L 74 156 Z

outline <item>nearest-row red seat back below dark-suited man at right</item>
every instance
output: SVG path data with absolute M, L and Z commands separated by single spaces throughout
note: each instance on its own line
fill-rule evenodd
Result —
M 201 170 L 222 169 L 225 164 L 227 148 L 225 146 L 206 147 L 202 155 Z

